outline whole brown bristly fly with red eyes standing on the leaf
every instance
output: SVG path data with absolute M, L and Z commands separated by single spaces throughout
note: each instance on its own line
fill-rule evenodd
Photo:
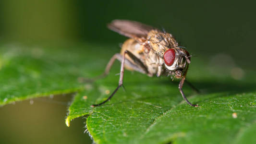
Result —
M 108 75 L 114 61 L 116 59 L 121 61 L 117 88 L 108 99 L 91 107 L 100 106 L 114 96 L 123 84 L 124 68 L 147 74 L 150 77 L 166 75 L 171 76 L 172 79 L 180 79 L 179 90 L 183 99 L 190 106 L 198 107 L 198 105 L 191 104 L 188 101 L 182 89 L 191 56 L 184 47 L 179 47 L 171 34 L 152 26 L 129 20 L 113 20 L 108 24 L 108 28 L 129 37 L 129 39 L 122 44 L 121 52 L 113 55 L 103 73 L 103 76 Z M 188 84 L 195 89 L 193 85 Z

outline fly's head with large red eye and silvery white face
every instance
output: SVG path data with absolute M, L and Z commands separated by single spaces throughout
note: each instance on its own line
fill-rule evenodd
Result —
M 165 68 L 172 73 L 175 78 L 185 76 L 188 64 L 190 63 L 190 55 L 183 48 L 169 48 L 164 53 Z

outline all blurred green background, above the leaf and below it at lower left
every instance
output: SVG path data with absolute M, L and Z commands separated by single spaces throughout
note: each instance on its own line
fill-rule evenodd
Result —
M 210 57 L 212 65 L 235 67 L 243 76 L 244 69 L 254 71 L 256 66 L 255 5 L 253 0 L 0 0 L 0 43 L 75 46 L 87 42 L 112 44 L 115 47 L 107 50 L 118 52 L 118 44 L 126 38 L 106 24 L 128 19 L 163 27 L 195 58 Z M 92 143 L 83 133 L 83 119 L 65 126 L 71 98 L 1 107 L 0 142 Z

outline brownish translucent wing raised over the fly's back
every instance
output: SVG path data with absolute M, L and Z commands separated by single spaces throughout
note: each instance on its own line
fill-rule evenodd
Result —
M 146 40 L 146 36 L 150 30 L 156 29 L 152 26 L 129 20 L 113 20 L 108 24 L 108 28 L 140 42 Z

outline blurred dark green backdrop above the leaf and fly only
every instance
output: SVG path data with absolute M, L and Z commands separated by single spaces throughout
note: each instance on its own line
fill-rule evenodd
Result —
M 1 40 L 26 43 L 121 43 L 106 24 L 129 19 L 164 28 L 196 55 L 226 53 L 252 65 L 252 0 L 1 0 Z M 244 63 L 244 61 L 246 63 Z

